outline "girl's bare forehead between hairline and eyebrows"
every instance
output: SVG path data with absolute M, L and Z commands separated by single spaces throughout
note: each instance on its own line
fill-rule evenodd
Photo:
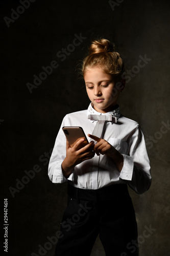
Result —
M 87 68 L 84 73 L 85 82 L 112 80 L 112 76 L 103 71 L 100 67 Z

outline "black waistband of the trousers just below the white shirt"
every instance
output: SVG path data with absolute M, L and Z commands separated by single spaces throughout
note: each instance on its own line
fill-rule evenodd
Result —
M 127 193 L 129 193 L 127 184 L 113 184 L 99 189 L 83 189 L 74 187 L 68 183 L 67 188 L 68 196 L 84 201 L 106 200 L 116 195 Z

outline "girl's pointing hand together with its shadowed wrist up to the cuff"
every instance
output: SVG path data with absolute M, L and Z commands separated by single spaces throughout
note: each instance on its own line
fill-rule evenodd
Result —
M 115 162 L 119 172 L 121 172 L 124 165 L 124 157 L 121 155 L 109 142 L 94 135 L 88 134 L 88 137 L 95 140 L 97 143 L 94 145 L 93 151 L 96 155 L 107 155 Z

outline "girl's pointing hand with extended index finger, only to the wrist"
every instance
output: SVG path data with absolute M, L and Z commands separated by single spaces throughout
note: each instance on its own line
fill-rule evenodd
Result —
M 106 140 L 91 134 L 88 134 L 88 137 L 90 137 L 91 139 L 97 142 L 93 148 L 93 151 L 96 153 L 96 155 L 99 156 L 99 154 L 102 154 L 102 155 L 107 155 L 109 157 L 113 157 L 113 155 L 116 153 L 116 149 Z

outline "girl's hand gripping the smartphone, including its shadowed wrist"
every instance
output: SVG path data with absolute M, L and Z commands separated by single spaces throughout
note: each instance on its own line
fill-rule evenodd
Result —
M 77 164 L 82 163 L 85 160 L 91 159 L 95 155 L 95 153 L 93 152 L 93 141 L 79 149 L 79 146 L 83 141 L 84 139 L 80 139 L 73 147 L 70 147 L 66 139 L 66 157 L 62 162 L 62 172 L 65 178 L 68 178 L 70 176 L 72 170 Z

